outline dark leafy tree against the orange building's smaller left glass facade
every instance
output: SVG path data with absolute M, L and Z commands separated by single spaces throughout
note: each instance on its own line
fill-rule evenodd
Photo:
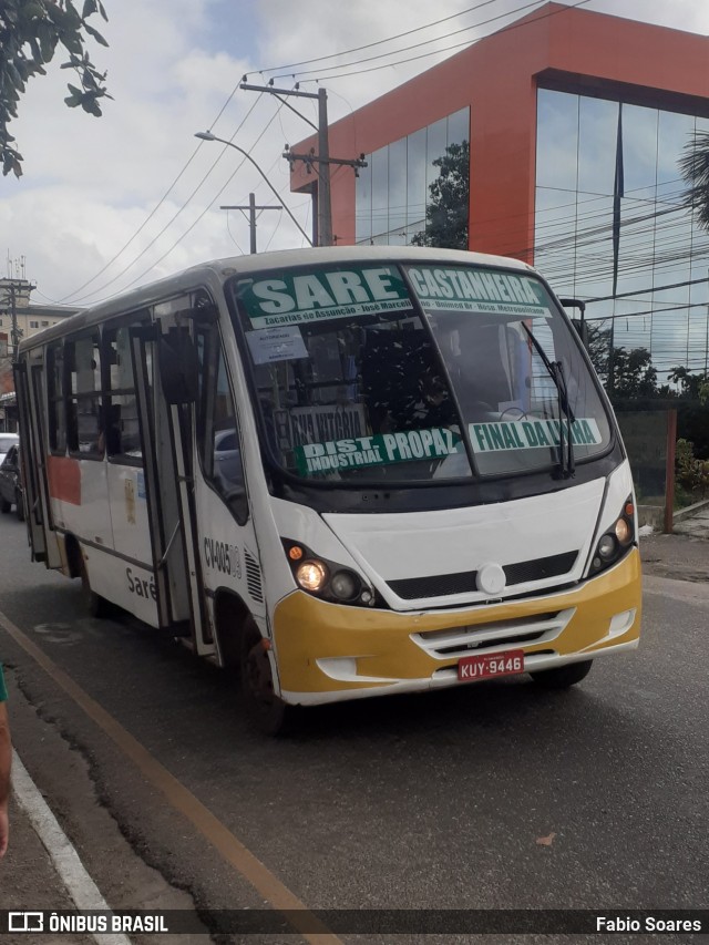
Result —
M 467 206 L 470 201 L 470 144 L 449 144 L 445 154 L 433 162 L 439 176 L 429 185 L 425 229 L 414 234 L 413 246 L 467 249 Z

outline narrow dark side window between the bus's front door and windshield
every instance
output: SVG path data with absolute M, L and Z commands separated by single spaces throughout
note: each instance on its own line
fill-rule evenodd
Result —
M 198 330 L 196 341 L 199 359 L 197 434 L 202 469 L 207 482 L 242 521 L 247 516 L 246 484 L 238 419 L 224 351 L 214 329 Z

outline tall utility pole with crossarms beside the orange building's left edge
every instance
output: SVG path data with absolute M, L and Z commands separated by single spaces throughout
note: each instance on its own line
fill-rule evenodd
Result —
M 276 97 L 280 97 L 281 95 L 295 95 L 301 99 L 318 100 L 317 125 L 314 125 L 312 122 L 305 115 L 301 115 L 297 109 L 294 109 L 292 105 L 284 101 L 285 105 L 288 105 L 288 107 L 292 112 L 295 112 L 299 117 L 307 122 L 310 127 L 315 129 L 315 131 L 318 133 L 318 154 L 315 153 L 315 148 L 311 148 L 309 154 L 296 154 L 295 152 L 290 151 L 288 145 L 286 145 L 284 157 L 288 162 L 290 162 L 291 171 L 296 161 L 302 161 L 306 164 L 306 167 L 308 168 L 308 174 L 311 173 L 312 166 L 317 165 L 316 171 L 318 175 L 318 186 L 317 189 L 314 192 L 314 203 L 316 212 L 314 213 L 312 243 L 317 246 L 332 246 L 333 237 L 332 205 L 330 202 L 330 164 L 340 164 L 353 167 L 354 174 L 357 175 L 359 167 L 367 166 L 367 162 L 363 160 L 364 155 L 362 154 L 359 156 L 359 158 L 353 160 L 347 160 L 343 157 L 330 157 L 330 144 L 328 136 L 328 95 L 325 89 L 318 89 L 317 92 L 301 92 L 298 85 L 296 85 L 295 89 L 275 89 L 273 85 L 249 85 L 245 82 L 242 82 L 239 88 L 250 92 L 269 92 L 271 95 L 276 95 Z

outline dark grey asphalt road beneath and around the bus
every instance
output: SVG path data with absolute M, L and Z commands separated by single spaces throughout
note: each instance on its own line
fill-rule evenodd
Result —
M 706 584 L 649 577 L 641 648 L 566 694 L 326 707 L 286 740 L 173 640 L 82 616 L 11 517 L 0 595 L 16 746 L 115 907 L 707 906 Z

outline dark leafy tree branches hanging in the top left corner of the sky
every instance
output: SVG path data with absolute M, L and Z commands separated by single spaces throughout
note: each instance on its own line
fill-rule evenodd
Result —
M 3 175 L 22 175 L 22 155 L 14 147 L 8 124 L 18 116 L 20 95 L 33 75 L 45 75 L 44 65 L 62 45 L 69 60 L 62 69 L 73 69 L 81 88 L 68 83 L 70 94 L 64 102 L 101 115 L 99 100 L 111 97 L 100 73 L 84 50 L 85 37 L 101 45 L 107 42 L 92 25 L 89 17 L 100 13 L 107 19 L 100 0 L 84 0 L 79 13 L 72 0 L 0 0 L 0 161 Z

